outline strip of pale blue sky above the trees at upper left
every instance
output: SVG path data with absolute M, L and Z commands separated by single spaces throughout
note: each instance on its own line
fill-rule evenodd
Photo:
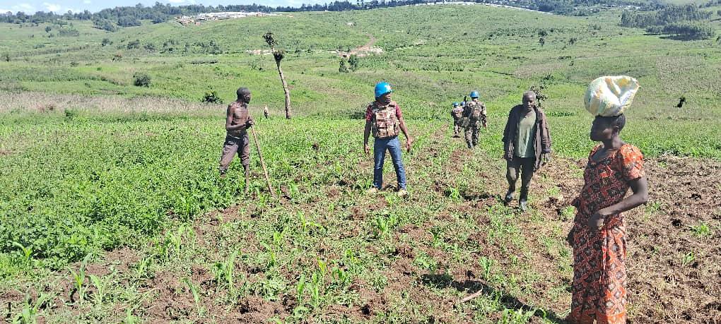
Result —
M 205 4 L 216 6 L 218 4 L 264 4 L 266 6 L 301 6 L 301 4 L 322 4 L 331 0 L 158 0 L 162 4 L 172 4 L 182 6 L 185 4 Z M 131 1 L 131 0 L 0 0 L 0 12 L 25 12 L 26 14 L 34 14 L 35 12 L 55 12 L 66 13 L 68 10 L 72 12 L 82 12 L 89 10 L 90 12 L 98 12 L 100 9 L 112 8 L 115 6 L 134 6 L 138 3 L 146 6 L 155 4 L 155 0 L 151 1 Z

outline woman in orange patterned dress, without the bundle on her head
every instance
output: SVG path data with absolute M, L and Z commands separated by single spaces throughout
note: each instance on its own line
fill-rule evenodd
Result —
M 623 114 L 597 116 L 591 150 L 583 172 L 585 184 L 573 200 L 577 213 L 568 243 L 573 247 L 570 323 L 626 323 L 626 228 L 621 212 L 648 200 L 643 155 L 619 133 Z M 633 194 L 624 199 L 631 189 Z

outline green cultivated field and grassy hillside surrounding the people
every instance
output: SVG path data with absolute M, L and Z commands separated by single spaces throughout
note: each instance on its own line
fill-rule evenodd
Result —
M 649 204 L 627 213 L 629 318 L 717 323 L 721 45 L 644 35 L 619 17 L 420 6 L 114 33 L 74 22 L 78 37 L 0 24 L 0 316 L 562 323 L 569 204 L 594 145 L 581 99 L 593 78 L 624 74 L 642 88 L 623 138 L 645 154 L 651 189 Z M 288 50 L 293 120 L 262 55 L 269 30 Z M 369 40 L 382 52 L 339 72 L 338 51 Z M 150 86 L 134 86 L 136 73 Z M 404 155 L 409 199 L 365 193 L 373 160 L 361 117 L 381 80 L 417 138 Z M 225 105 L 200 99 L 217 91 L 227 103 L 239 86 L 253 91 L 279 200 L 255 148 L 250 194 L 239 163 L 218 177 Z M 529 86 L 547 96 L 554 161 L 522 213 L 500 202 L 500 138 Z M 451 138 L 448 112 L 474 89 L 490 127 L 469 151 Z M 389 163 L 385 179 L 394 184 Z

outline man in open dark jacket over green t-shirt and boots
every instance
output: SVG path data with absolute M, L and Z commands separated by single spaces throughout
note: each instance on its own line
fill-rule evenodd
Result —
M 518 204 L 526 211 L 528 203 L 528 186 L 534 172 L 551 159 L 551 135 L 548 129 L 546 114 L 536 101 L 533 91 L 523 94 L 523 104 L 510 109 L 508 122 L 503 132 L 503 156 L 506 160 L 508 192 L 505 203 L 513 200 L 516 192 L 518 173 L 521 173 L 521 196 Z M 542 162 L 542 163 L 541 163 Z

